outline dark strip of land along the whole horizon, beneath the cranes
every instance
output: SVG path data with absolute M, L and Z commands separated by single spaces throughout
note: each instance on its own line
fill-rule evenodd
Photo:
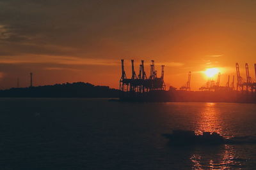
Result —
M 149 92 L 122 92 L 108 86 L 76 82 L 38 87 L 0 90 L 0 97 L 110 97 L 127 102 L 223 102 L 256 103 L 255 92 L 246 91 L 184 91 L 151 90 Z

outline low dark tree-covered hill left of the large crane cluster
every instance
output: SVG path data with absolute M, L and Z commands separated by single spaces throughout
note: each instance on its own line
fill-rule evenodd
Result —
M 119 90 L 90 83 L 62 83 L 0 90 L 0 97 L 118 97 Z

